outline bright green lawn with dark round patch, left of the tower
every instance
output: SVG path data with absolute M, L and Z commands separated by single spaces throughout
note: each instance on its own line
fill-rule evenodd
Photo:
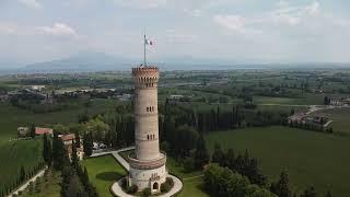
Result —
M 126 175 L 122 166 L 112 155 L 90 158 L 82 161 L 82 164 L 86 167 L 89 178 L 100 197 L 113 196 L 109 192 L 112 184 Z

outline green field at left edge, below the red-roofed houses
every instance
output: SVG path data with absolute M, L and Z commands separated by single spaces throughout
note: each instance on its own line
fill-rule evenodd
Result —
M 43 140 L 20 140 L 0 147 L 0 189 L 12 184 L 23 166 L 26 172 L 43 160 Z

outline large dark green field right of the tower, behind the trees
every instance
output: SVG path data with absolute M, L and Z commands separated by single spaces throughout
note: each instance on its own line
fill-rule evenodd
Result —
M 314 185 L 322 193 L 330 189 L 334 196 L 350 193 L 349 137 L 276 126 L 211 132 L 206 140 L 211 151 L 215 142 L 242 153 L 248 149 L 270 179 L 288 170 L 294 190 Z

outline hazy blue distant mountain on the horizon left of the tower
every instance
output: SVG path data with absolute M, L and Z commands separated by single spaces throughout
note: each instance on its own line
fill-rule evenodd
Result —
M 132 66 L 132 60 L 117 58 L 103 53 L 80 53 L 78 55 L 45 62 L 32 63 L 26 70 L 42 71 L 101 71 L 127 70 Z

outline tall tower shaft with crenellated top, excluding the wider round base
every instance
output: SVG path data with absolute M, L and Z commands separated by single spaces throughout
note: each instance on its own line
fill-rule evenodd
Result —
M 133 68 L 136 158 L 154 160 L 160 157 L 158 121 L 156 67 Z

